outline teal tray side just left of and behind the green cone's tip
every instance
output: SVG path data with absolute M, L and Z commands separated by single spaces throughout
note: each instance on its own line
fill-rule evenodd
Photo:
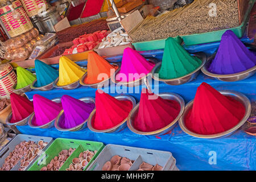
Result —
M 183 42 L 180 36 L 176 36 L 174 39 L 177 40 L 179 44 Z M 133 43 L 133 46 L 137 51 L 152 51 L 157 49 L 164 49 L 165 44 L 166 39 L 159 39 L 146 42 L 135 42 Z

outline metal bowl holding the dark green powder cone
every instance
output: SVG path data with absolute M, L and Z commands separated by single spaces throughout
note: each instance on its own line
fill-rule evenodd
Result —
M 158 81 L 164 81 L 166 84 L 168 85 L 181 85 L 181 84 L 185 84 L 187 82 L 192 81 L 194 78 L 197 77 L 197 75 L 200 72 L 200 69 L 204 66 L 205 61 L 206 61 L 206 56 L 204 53 L 197 53 L 195 54 L 195 56 L 199 57 L 199 59 L 201 59 L 202 63 L 200 65 L 200 67 L 198 67 L 195 71 L 189 73 L 188 75 L 179 77 L 179 78 L 172 78 L 172 79 L 162 79 L 159 78 L 158 76 L 156 76 L 156 71 L 158 71 L 158 69 L 160 69 L 160 66 L 162 63 L 158 63 L 152 70 L 152 77 L 154 80 L 158 80 Z

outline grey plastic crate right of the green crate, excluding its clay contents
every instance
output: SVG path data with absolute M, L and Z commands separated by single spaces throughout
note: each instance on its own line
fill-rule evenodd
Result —
M 134 160 L 134 163 L 129 171 L 139 169 L 139 165 L 141 165 L 142 162 L 146 162 L 151 165 L 159 164 L 163 167 L 163 171 L 168 171 L 175 167 L 175 159 L 173 158 L 171 152 L 108 144 L 87 170 L 101 171 L 104 164 L 108 162 L 114 155 L 119 155 L 129 158 L 130 160 Z

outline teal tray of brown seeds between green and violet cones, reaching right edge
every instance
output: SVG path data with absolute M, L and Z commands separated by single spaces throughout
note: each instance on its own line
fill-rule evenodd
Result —
M 251 0 L 249 2 L 249 8 L 246 10 L 245 16 L 243 18 L 243 22 L 238 27 L 228 28 L 225 30 L 212 31 L 212 32 L 205 32 L 202 34 L 183 35 L 180 37 L 183 39 L 186 46 L 211 43 L 211 42 L 219 42 L 221 40 L 222 34 L 224 34 L 226 30 L 232 30 L 234 34 L 237 35 L 238 38 L 241 38 L 243 35 L 243 32 L 245 32 L 247 22 L 250 18 L 250 11 L 253 8 L 254 3 L 255 3 L 255 0 Z

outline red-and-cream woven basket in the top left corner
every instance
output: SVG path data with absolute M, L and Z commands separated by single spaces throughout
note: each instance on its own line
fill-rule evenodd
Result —
M 13 18 L 13 13 L 11 12 L 9 6 L 0 8 L 0 18 L 5 25 L 7 32 L 12 38 L 33 28 L 30 18 L 19 1 L 13 2 L 13 8 L 19 12 L 20 19 Z

